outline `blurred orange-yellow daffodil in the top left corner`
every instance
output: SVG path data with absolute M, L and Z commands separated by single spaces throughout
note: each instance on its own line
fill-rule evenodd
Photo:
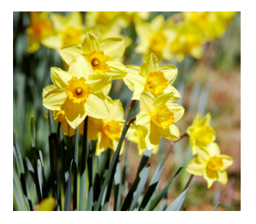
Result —
M 28 53 L 36 52 L 41 44 L 41 41 L 48 37 L 52 31 L 52 24 L 48 18 L 49 11 L 31 11 L 30 26 L 26 29 L 28 34 Z

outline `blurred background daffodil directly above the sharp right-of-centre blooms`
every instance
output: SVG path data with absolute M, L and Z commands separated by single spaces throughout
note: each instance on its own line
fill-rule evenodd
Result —
M 158 15 L 148 22 L 136 22 L 136 33 L 139 36 L 139 43 L 136 47 L 136 53 L 143 54 L 143 60 L 150 53 L 156 54 L 159 60 L 170 60 L 172 54 L 169 44 L 172 36 L 172 30 L 165 27 L 165 18 Z

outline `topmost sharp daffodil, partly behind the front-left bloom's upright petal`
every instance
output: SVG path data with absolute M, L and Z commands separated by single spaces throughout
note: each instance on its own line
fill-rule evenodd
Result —
M 69 65 L 74 57 L 82 55 L 93 67 L 94 73 L 106 74 L 110 77 L 107 83 L 107 94 L 111 87 L 111 80 L 126 76 L 126 67 L 116 60 L 122 57 L 125 43 L 122 38 L 113 37 L 100 41 L 94 34 L 87 32 L 82 44 L 71 44 L 62 47 L 61 57 Z

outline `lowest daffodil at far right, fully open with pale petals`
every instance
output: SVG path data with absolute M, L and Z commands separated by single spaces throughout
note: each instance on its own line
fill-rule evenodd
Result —
M 190 174 L 203 176 L 209 188 L 215 181 L 222 184 L 228 182 L 228 174 L 225 170 L 231 164 L 233 164 L 232 158 L 221 154 L 218 144 L 212 142 L 208 144 L 206 149 L 199 149 L 198 157 L 192 159 L 185 170 Z

